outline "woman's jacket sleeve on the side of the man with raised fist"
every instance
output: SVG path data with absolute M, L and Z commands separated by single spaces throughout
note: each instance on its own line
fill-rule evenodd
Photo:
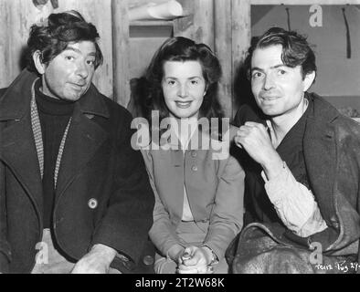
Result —
M 215 204 L 204 245 L 210 247 L 221 260 L 228 245 L 242 228 L 245 173 L 232 156 L 219 163 L 219 170 L 221 170 L 221 164 L 223 170 L 218 177 Z

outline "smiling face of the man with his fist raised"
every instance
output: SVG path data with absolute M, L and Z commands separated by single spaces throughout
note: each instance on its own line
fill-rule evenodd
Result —
M 308 76 L 302 78 L 301 66 L 284 65 L 281 53 L 281 45 L 257 48 L 251 59 L 252 93 L 259 108 L 270 117 L 299 110 L 304 91 L 312 84 Z

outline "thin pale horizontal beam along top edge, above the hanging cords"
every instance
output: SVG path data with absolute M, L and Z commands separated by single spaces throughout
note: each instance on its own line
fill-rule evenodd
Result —
M 360 0 L 251 0 L 251 5 L 360 5 Z

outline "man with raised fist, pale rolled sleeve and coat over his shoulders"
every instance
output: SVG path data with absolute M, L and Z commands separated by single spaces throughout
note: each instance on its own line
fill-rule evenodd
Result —
M 240 108 L 245 228 L 234 273 L 354 273 L 360 237 L 360 125 L 316 94 L 306 38 L 270 28 L 249 49 L 258 109 Z

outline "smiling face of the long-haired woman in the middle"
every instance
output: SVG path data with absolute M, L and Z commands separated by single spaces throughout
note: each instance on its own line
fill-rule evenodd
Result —
M 198 118 L 206 94 L 206 80 L 199 61 L 166 61 L 162 88 L 171 116 Z

